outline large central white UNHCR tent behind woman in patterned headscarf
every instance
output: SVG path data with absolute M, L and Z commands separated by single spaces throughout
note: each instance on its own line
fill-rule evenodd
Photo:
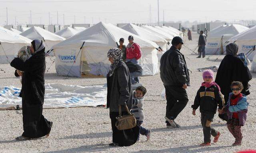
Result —
M 81 77 L 82 74 L 106 76 L 110 67 L 108 50 L 117 47 L 121 37 L 128 38 L 129 35 L 134 34 L 112 24 L 100 22 L 89 27 L 52 47 L 56 72 L 70 77 Z M 141 47 L 142 57 L 138 62 L 143 75 L 156 75 L 159 72 L 158 45 L 137 35 L 134 35 L 134 42 Z

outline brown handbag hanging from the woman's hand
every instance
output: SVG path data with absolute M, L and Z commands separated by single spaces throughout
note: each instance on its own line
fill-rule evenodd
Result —
M 119 105 L 119 116 L 116 117 L 116 128 L 118 130 L 131 129 L 136 126 L 136 119 L 125 104 L 127 115 L 121 116 L 121 105 Z

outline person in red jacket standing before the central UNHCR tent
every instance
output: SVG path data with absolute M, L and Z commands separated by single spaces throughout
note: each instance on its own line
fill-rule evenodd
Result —
M 129 35 L 128 37 L 128 45 L 126 47 L 126 61 L 131 61 L 134 64 L 138 64 L 138 59 L 141 57 L 140 45 L 138 43 L 133 42 L 133 36 Z M 132 84 L 139 84 L 138 77 L 131 78 Z

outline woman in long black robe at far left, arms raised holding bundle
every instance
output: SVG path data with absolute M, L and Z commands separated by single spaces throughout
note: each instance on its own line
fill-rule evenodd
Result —
M 23 62 L 14 58 L 11 66 L 16 69 L 15 76 L 22 76 L 23 130 L 16 140 L 27 140 L 46 136 L 48 137 L 53 122 L 49 122 L 42 115 L 44 104 L 44 72 L 45 72 L 45 47 L 40 39 L 31 42 L 32 57 Z

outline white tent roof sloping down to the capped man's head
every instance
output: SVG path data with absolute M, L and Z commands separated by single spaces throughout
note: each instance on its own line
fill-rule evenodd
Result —
M 170 49 L 170 46 L 171 46 L 170 43 L 171 43 L 172 38 L 173 38 L 171 35 L 169 35 L 168 33 L 163 32 L 159 29 L 156 29 L 155 27 L 152 27 L 152 26 L 142 25 L 141 27 L 151 31 L 152 33 L 154 33 L 155 35 L 158 35 L 159 37 L 163 37 L 167 41 L 166 50 Z

